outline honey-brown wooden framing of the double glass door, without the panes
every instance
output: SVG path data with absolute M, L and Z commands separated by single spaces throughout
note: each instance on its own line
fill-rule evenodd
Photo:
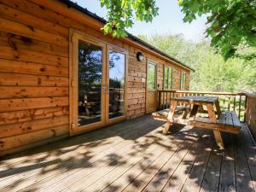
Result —
M 84 42 L 88 42 L 90 44 L 96 44 L 98 46 L 102 47 L 102 89 L 106 87 L 106 83 L 109 82 L 107 79 L 107 73 L 108 72 L 108 50 L 109 48 L 114 49 L 116 51 L 119 51 L 121 53 L 125 53 L 125 102 L 124 102 L 124 116 L 113 118 L 108 120 L 108 108 L 107 108 L 107 102 L 108 102 L 108 96 L 107 94 L 103 93 L 102 90 L 102 103 L 101 103 L 101 109 L 102 109 L 102 121 L 92 123 L 89 125 L 82 125 L 78 126 L 78 46 L 79 46 L 79 40 L 84 40 Z M 108 42 L 104 42 L 98 38 L 94 38 L 90 35 L 87 35 L 84 32 L 79 32 L 74 29 L 69 30 L 69 135 L 74 136 L 78 135 L 80 133 L 95 130 L 98 128 L 101 128 L 106 125 L 110 125 L 113 123 L 120 122 L 124 119 L 126 119 L 127 115 L 127 80 L 128 80 L 128 50 L 119 48 L 116 45 L 109 44 Z M 109 87 L 109 86 L 108 86 Z M 107 92 L 107 91 L 106 91 Z

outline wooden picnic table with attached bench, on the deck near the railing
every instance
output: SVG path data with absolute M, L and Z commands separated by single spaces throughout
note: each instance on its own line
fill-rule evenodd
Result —
M 221 111 L 218 96 L 181 96 L 174 98 L 171 102 L 171 108 L 167 115 L 167 122 L 163 131 L 164 134 L 169 131 L 172 125 L 173 115 L 179 103 L 192 106 L 189 113 L 189 125 L 211 129 L 219 148 L 224 148 L 220 131 L 236 134 L 240 132 L 241 124 L 236 112 Z M 202 109 L 202 106 L 207 107 L 209 117 L 196 117 L 196 113 L 198 113 L 199 109 Z

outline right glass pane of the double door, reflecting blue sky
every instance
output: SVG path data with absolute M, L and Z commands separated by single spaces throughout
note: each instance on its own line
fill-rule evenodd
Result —
M 125 55 L 109 50 L 109 119 L 124 115 Z

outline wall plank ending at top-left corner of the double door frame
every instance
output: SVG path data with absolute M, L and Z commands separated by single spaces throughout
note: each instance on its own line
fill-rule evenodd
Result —
M 7 19 L 18 21 L 24 25 L 30 25 L 37 27 L 46 32 L 55 33 L 68 38 L 68 28 L 64 26 L 57 25 L 49 20 L 43 20 L 41 18 L 35 17 L 33 15 L 26 14 L 18 9 L 13 9 L 3 4 L 0 4 L 0 16 Z

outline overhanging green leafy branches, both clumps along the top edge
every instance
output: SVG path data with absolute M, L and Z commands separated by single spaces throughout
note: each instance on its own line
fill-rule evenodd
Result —
M 126 36 L 125 28 L 133 25 L 134 18 L 149 22 L 158 15 L 154 0 L 101 0 L 101 3 L 108 9 L 103 31 L 117 38 Z M 178 0 L 178 4 L 185 22 L 207 14 L 207 36 L 224 59 L 235 55 L 240 44 L 255 47 L 256 0 Z

